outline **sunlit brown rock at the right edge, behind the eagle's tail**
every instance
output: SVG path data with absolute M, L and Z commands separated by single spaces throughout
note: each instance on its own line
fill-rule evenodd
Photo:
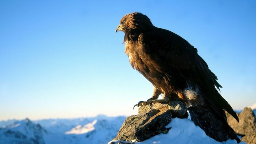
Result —
M 228 124 L 236 133 L 243 136 L 242 141 L 248 144 L 256 144 L 256 119 L 251 108 L 244 108 L 241 113 L 237 114 L 239 123 L 226 112 Z

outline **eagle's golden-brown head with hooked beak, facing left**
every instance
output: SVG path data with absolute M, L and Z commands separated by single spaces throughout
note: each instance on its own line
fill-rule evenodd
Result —
M 120 24 L 115 29 L 115 32 L 123 31 L 126 35 L 134 35 L 144 32 L 145 30 L 150 30 L 153 27 L 153 24 L 146 15 L 134 12 L 125 15 L 121 19 Z

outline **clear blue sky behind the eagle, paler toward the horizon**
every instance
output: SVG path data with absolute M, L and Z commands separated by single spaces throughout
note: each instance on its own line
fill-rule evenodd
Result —
M 147 15 L 195 46 L 234 109 L 256 103 L 256 2 L 0 0 L 0 120 L 137 114 L 153 86 L 120 19 Z

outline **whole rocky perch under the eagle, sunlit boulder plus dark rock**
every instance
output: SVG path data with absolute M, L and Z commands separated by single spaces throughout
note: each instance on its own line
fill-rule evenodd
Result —
M 240 142 L 234 130 L 225 122 L 217 119 L 207 108 L 189 108 L 190 116 L 195 125 L 203 129 L 206 135 L 223 142 L 235 139 Z M 135 116 L 128 116 L 117 132 L 117 136 L 108 144 L 132 144 L 147 140 L 160 133 L 168 133 L 166 127 L 172 118 L 187 118 L 187 107 L 180 101 L 169 104 L 156 103 L 152 106 L 141 106 Z

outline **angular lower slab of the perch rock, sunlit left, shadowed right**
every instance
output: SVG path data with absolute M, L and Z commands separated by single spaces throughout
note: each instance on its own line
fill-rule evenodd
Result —
M 115 140 L 136 140 L 141 142 L 159 133 L 166 133 L 169 129 L 165 125 L 171 122 L 171 111 L 161 112 L 152 109 L 145 114 L 128 116 L 117 132 Z

